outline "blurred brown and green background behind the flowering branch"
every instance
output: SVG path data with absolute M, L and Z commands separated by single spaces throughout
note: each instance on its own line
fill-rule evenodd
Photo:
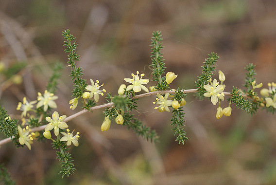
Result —
M 73 84 L 62 37 L 67 29 L 77 37 L 77 66 L 85 70 L 84 78 L 99 79 L 112 94 L 137 70 L 151 78 L 149 45 L 157 30 L 164 36 L 166 72 L 178 74 L 171 88 L 193 89 L 211 52 L 220 56 L 216 67 L 226 76 L 226 92 L 233 85 L 242 88 L 249 63 L 256 65 L 257 83 L 267 88 L 276 79 L 275 10 L 275 0 L 1 0 L 0 61 L 6 68 L 28 65 L 17 73 L 21 83 L 0 76 L 0 105 L 20 118 L 18 101 L 44 92 L 54 64 L 61 62 L 57 111 L 81 110 L 69 109 Z M 35 142 L 32 150 L 6 144 L 0 163 L 18 185 L 276 184 L 275 115 L 259 110 L 251 116 L 232 105 L 232 115 L 218 120 L 217 106 L 209 100 L 193 94 L 186 100 L 185 146 L 174 141 L 171 113 L 156 111 L 152 96 L 140 99 L 134 113 L 157 131 L 157 144 L 114 121 L 101 132 L 101 110 L 68 123 L 81 133 L 79 147 L 71 149 L 77 170 L 69 178 L 58 174 L 60 163 L 49 141 Z M 227 105 L 224 100 L 222 107 Z

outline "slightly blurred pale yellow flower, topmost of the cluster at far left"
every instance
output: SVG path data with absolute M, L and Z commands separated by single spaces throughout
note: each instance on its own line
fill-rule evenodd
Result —
M 50 93 L 47 90 L 44 91 L 43 95 L 40 92 L 38 92 L 37 94 L 38 103 L 36 104 L 36 108 L 44 106 L 43 111 L 46 112 L 49 107 L 53 109 L 57 107 L 54 100 L 56 100 L 58 96 L 55 96 L 53 93 Z

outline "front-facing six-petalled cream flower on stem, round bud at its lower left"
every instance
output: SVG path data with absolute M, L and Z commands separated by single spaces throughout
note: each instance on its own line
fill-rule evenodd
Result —
M 59 134 L 59 129 L 66 129 L 68 128 L 67 123 L 64 122 L 66 118 L 66 115 L 63 116 L 59 116 L 57 111 L 54 111 L 52 113 L 52 119 L 51 117 L 46 117 L 46 121 L 50 122 L 46 128 L 45 131 L 50 131 L 52 129 L 54 129 L 54 135 L 58 135 Z

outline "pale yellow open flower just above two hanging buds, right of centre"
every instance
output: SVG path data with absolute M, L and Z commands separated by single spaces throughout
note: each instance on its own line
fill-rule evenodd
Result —
M 225 85 L 219 85 L 219 82 L 217 82 L 217 79 L 215 78 L 213 80 L 212 86 L 211 85 L 204 85 L 203 86 L 207 92 L 205 92 L 203 95 L 205 97 L 211 97 L 211 102 L 213 105 L 216 105 L 218 102 L 218 98 L 221 100 L 224 100 L 224 88 Z

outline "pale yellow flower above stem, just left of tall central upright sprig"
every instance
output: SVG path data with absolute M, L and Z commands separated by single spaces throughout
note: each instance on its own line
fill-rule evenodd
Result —
M 147 84 L 149 83 L 149 79 L 142 79 L 142 77 L 145 74 L 141 74 L 141 78 L 139 78 L 138 74 L 139 72 L 136 72 L 137 75 L 134 75 L 133 73 L 132 78 L 124 78 L 124 80 L 128 83 L 132 83 L 132 85 L 128 85 L 126 88 L 126 91 L 130 91 L 133 89 L 134 92 L 140 92 L 141 89 L 144 90 L 145 92 L 149 92 L 148 88 L 146 88 L 145 86 L 143 86 L 143 84 Z

